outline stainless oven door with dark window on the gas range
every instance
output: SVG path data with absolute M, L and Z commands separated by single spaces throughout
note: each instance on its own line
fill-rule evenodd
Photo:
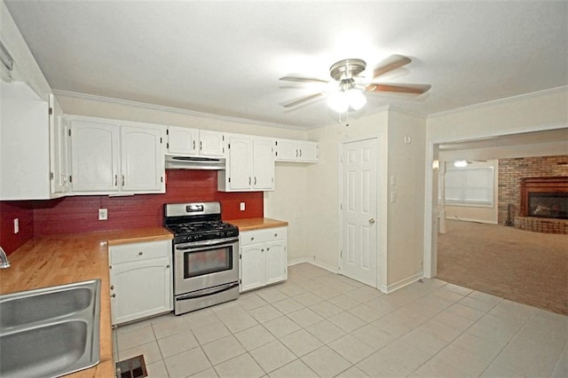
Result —
M 175 245 L 175 295 L 238 281 L 238 237 Z

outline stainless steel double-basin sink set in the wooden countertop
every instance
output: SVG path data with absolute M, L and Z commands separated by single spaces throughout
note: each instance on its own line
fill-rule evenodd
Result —
M 70 374 L 99 363 L 100 280 L 0 295 L 0 376 Z

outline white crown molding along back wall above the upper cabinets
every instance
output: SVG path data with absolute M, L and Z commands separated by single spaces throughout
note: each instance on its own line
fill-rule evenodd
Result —
M 162 105 L 149 104 L 149 103 L 146 103 L 146 102 L 132 101 L 132 100 L 129 100 L 129 99 L 110 98 L 110 97 L 105 97 L 105 96 L 97 96 L 97 95 L 91 95 L 91 94 L 87 94 L 87 93 L 79 93 L 79 92 L 74 92 L 74 91 L 53 90 L 52 92 L 56 96 L 65 96 L 65 97 L 69 97 L 69 98 L 82 98 L 82 99 L 87 99 L 87 100 L 92 100 L 92 101 L 106 102 L 106 103 L 109 103 L 109 104 L 117 104 L 117 105 L 123 105 L 123 106 L 134 106 L 134 107 L 140 107 L 140 108 L 144 108 L 144 109 L 156 110 L 156 111 L 162 111 L 162 112 L 168 112 L 168 113 L 193 115 L 195 117 L 216 119 L 216 120 L 225 121 L 225 122 L 246 123 L 248 125 L 252 124 L 252 125 L 259 125 L 259 126 L 264 126 L 264 127 L 273 127 L 273 128 L 290 129 L 290 130 L 301 130 L 301 131 L 309 130 L 309 128 L 302 127 L 302 126 L 294 126 L 294 125 L 288 125 L 288 124 L 276 123 L 276 122 L 256 121 L 256 120 L 251 120 L 251 119 L 247 119 L 247 118 L 232 117 L 232 116 L 228 116 L 228 115 L 204 113 L 204 112 L 198 112 L 198 111 L 195 111 L 195 110 L 182 109 L 182 108 L 179 108 L 179 107 L 162 106 Z

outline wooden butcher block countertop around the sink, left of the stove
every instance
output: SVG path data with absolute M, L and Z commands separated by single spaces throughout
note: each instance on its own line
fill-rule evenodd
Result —
M 114 377 L 107 245 L 172 238 L 162 227 L 37 237 L 8 256 L 11 266 L 0 270 L 0 294 L 100 279 L 100 362 L 66 376 Z

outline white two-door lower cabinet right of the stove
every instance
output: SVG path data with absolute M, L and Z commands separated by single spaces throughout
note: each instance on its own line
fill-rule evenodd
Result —
M 241 292 L 288 278 L 287 228 L 241 232 Z

